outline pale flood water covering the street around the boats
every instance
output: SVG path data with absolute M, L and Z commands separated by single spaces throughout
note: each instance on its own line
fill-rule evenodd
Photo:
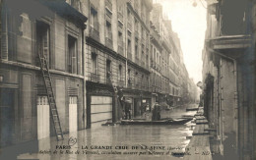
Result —
M 161 111 L 161 118 L 194 115 L 188 106 Z M 191 105 L 189 107 L 195 107 Z M 173 151 L 184 150 L 192 135 L 191 122 L 185 125 L 104 126 L 38 142 L 38 153 L 23 153 L 18 158 L 34 159 L 180 159 Z M 72 145 L 71 148 L 65 148 Z

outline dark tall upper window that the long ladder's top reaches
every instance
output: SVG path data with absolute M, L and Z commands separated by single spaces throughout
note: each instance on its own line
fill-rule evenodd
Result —
M 49 26 L 42 23 L 37 22 L 36 23 L 36 51 L 38 54 L 40 54 L 40 57 L 45 57 L 46 61 L 49 65 L 49 68 L 51 66 L 50 64 L 50 50 L 49 50 Z M 36 57 L 37 57 L 37 53 Z M 38 60 L 38 57 L 37 59 Z M 39 62 L 39 61 L 36 61 Z M 39 64 L 36 64 L 39 66 Z

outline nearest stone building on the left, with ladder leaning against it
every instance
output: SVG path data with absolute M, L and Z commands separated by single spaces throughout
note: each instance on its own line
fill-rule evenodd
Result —
M 83 30 L 87 17 L 72 5 L 1 1 L 1 146 L 55 134 L 39 54 L 49 64 L 62 131 L 85 128 Z

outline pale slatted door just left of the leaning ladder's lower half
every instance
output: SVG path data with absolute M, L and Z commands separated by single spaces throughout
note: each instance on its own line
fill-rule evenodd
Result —
M 37 96 L 37 138 L 50 135 L 50 111 L 47 96 Z

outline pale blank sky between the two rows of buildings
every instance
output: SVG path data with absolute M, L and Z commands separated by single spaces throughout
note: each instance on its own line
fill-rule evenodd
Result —
M 202 50 L 207 27 L 206 2 L 204 0 L 153 0 L 153 2 L 162 5 L 163 13 L 171 20 L 173 31 L 178 33 L 189 77 L 195 82 L 202 80 Z M 196 7 L 193 7 L 194 2 L 197 3 Z

